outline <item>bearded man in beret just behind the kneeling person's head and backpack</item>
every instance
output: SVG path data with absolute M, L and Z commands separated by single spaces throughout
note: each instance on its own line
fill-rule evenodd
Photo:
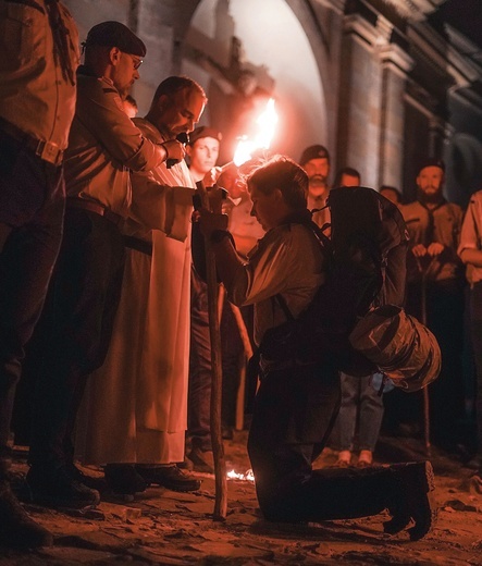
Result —
M 308 210 L 316 210 L 312 216 L 313 222 L 322 227 L 330 222 L 330 209 L 326 207 L 330 194 L 330 153 L 323 146 L 309 146 L 301 153 L 299 164 L 307 172 L 309 180 Z

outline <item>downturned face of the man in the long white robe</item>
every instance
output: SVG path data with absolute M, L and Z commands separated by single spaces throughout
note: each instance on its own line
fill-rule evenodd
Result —
M 183 88 L 159 99 L 162 125 L 175 137 L 193 132 L 205 110 L 206 99 L 198 90 Z

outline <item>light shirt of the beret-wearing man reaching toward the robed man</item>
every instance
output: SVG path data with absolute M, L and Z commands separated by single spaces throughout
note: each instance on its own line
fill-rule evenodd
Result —
M 81 67 L 65 152 L 67 196 L 94 200 L 126 218 L 132 201 L 129 170 L 150 171 L 164 157 L 164 150 L 144 137 L 125 114 L 112 82 Z

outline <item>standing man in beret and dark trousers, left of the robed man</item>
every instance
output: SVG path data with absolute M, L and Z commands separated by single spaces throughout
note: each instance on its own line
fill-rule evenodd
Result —
M 123 98 L 139 77 L 146 47 L 125 25 L 94 26 L 77 76 L 77 104 L 65 156 L 65 230 L 41 319 L 44 352 L 33 416 L 27 481 L 36 503 L 86 507 L 99 493 L 73 464 L 71 433 L 86 377 L 109 346 L 124 269 L 120 225 L 131 205 L 129 170 L 149 171 L 176 140 L 147 139 Z

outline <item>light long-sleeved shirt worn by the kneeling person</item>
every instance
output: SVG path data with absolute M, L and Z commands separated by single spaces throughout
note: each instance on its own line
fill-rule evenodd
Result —
M 297 317 L 323 283 L 324 256 L 311 230 L 301 224 L 284 224 L 270 230 L 239 266 L 230 300 L 238 306 L 255 305 L 255 342 L 264 332 L 286 320 L 274 299 L 281 293 L 289 311 Z

